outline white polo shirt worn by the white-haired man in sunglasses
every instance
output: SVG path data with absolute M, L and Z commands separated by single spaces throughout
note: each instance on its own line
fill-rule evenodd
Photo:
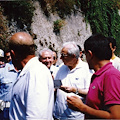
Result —
M 91 74 L 86 62 L 79 59 L 77 66 L 70 70 L 68 66 L 62 65 L 58 70 L 55 80 L 61 80 L 63 86 L 77 87 L 81 89 L 89 89 Z M 69 95 L 76 95 L 74 93 L 66 93 L 57 89 L 57 96 L 54 107 L 54 116 L 57 119 L 84 119 L 84 114 L 68 108 L 66 99 Z M 83 101 L 84 98 L 80 97 Z M 84 101 L 85 102 L 85 101 Z

